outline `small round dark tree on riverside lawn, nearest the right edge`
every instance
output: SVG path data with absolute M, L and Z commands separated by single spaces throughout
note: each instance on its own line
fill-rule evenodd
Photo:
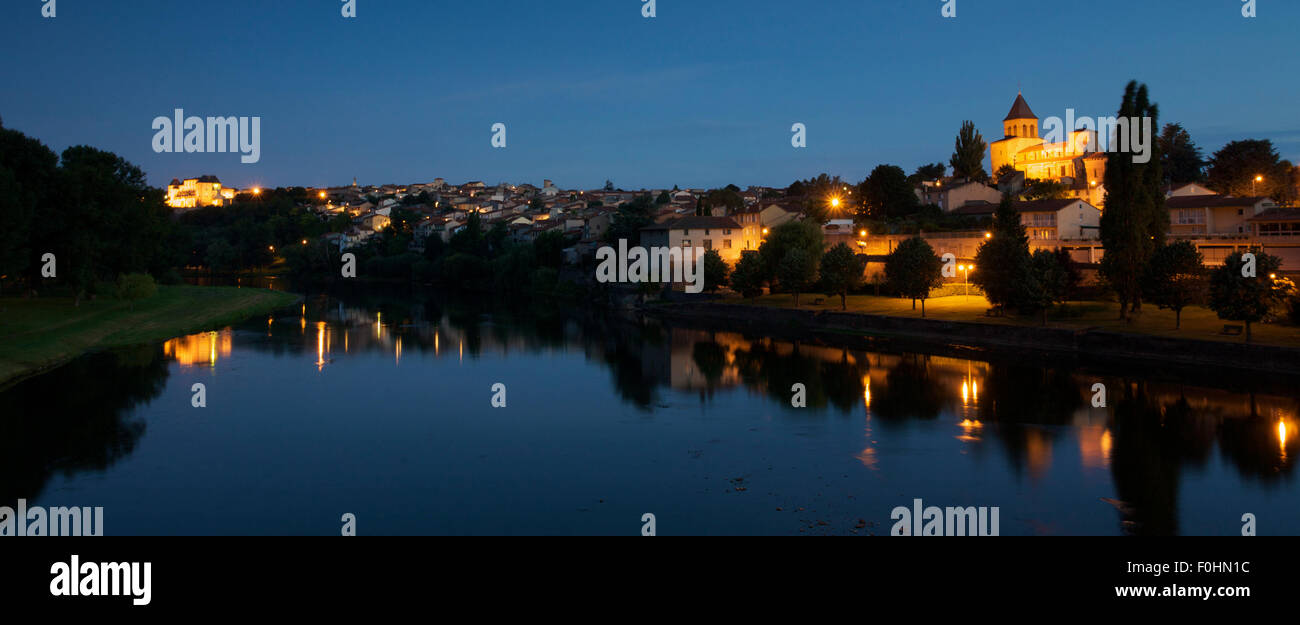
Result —
M 1247 265 L 1242 253 L 1231 253 L 1210 273 L 1209 304 L 1218 317 L 1245 324 L 1245 342 L 1251 342 L 1251 324 L 1264 321 L 1269 311 L 1284 296 L 1274 274 L 1282 259 L 1253 249 L 1254 275 L 1243 275 Z

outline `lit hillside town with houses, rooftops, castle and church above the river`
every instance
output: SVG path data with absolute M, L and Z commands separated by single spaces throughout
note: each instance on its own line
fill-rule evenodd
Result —
M 842 242 L 861 253 L 887 255 L 900 240 L 919 234 L 936 253 L 972 259 L 993 209 L 1004 195 L 1010 195 L 1018 200 L 1014 209 L 1028 231 L 1031 248 L 1063 248 L 1075 261 L 1095 264 L 1104 253 L 1098 230 L 1106 196 L 1106 157 L 1087 149 L 1089 143 L 1096 144 L 1095 131 L 1080 130 L 1065 142 L 1045 143 L 1039 138 L 1039 123 L 1024 96 L 1017 95 L 1002 121 L 1005 136 L 988 146 L 997 175 L 949 175 L 940 165 L 939 175 L 923 177 L 918 170 L 909 177 L 914 207 L 936 213 L 940 218 L 932 221 L 937 227 L 870 225 L 863 220 L 866 200 L 853 198 L 854 192 L 870 190 L 838 181 L 809 181 L 786 188 L 728 186 L 722 190 L 727 192 L 722 201 L 710 200 L 719 191 L 710 188 L 623 190 L 607 183 L 603 188 L 578 190 L 550 179 L 537 186 L 443 178 L 411 185 L 360 186 L 354 181 L 347 186 L 308 187 L 306 199 L 322 221 L 348 220 L 341 231 L 322 235 L 339 251 L 372 240 L 389 226 L 394 210 L 406 210 L 415 218 L 411 246 L 416 252 L 429 236 L 450 242 L 471 216 L 477 216 L 484 229 L 504 223 L 514 243 L 559 233 L 566 242 L 566 261 L 576 264 L 602 244 L 620 207 L 650 196 L 653 223 L 646 230 L 656 236 L 654 240 L 668 247 L 716 249 L 734 265 L 741 252 L 757 249 L 772 227 L 810 217 L 820 221 L 827 247 Z M 1296 172 L 1300 179 L 1300 168 Z M 1044 185 L 1050 187 L 1046 198 L 1040 192 Z M 168 204 L 186 212 L 259 194 L 260 188 L 234 190 L 222 187 L 213 175 L 202 175 L 173 179 Z M 1208 265 L 1219 264 L 1238 249 L 1262 248 L 1279 256 L 1286 272 L 1300 272 L 1300 208 L 1294 205 L 1297 194 L 1290 195 L 1278 201 L 1253 194 L 1221 194 L 1202 182 L 1170 182 L 1165 190 L 1167 234 L 1191 240 Z

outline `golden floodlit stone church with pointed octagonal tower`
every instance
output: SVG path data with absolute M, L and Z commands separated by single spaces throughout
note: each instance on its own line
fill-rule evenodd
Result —
M 1023 95 L 1015 96 L 1011 112 L 1002 120 L 1004 138 L 989 146 L 993 172 L 1011 165 L 1026 179 L 1054 181 L 1067 187 L 1070 198 L 1101 208 L 1106 192 L 1106 155 L 1098 149 L 1095 130 L 1070 130 L 1065 140 L 1046 143 L 1039 138 L 1039 117 Z

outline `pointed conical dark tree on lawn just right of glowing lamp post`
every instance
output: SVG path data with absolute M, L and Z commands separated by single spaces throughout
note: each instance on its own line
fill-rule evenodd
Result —
M 992 236 L 976 249 L 975 266 L 979 269 L 971 282 L 984 291 L 994 311 L 1004 312 L 1019 301 L 1030 270 L 1030 236 L 1010 196 L 1002 196 L 993 212 Z

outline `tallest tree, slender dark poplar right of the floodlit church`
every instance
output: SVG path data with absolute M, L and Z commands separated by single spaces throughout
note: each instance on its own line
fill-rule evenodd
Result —
M 1118 117 L 1149 117 L 1150 127 L 1156 127 L 1158 114 L 1148 99 L 1147 86 L 1130 82 Z M 1136 123 L 1130 129 L 1135 135 L 1141 131 L 1143 126 Z M 1154 136 L 1135 138 L 1131 143 L 1139 140 L 1154 143 Z M 1106 253 L 1100 273 L 1119 299 L 1121 320 L 1130 320 L 1130 312 L 1141 309 L 1143 268 L 1169 231 L 1160 146 L 1153 151 L 1156 153 L 1147 162 L 1135 162 L 1128 152 L 1112 152 L 1106 160 L 1106 209 L 1101 213 L 1101 243 Z

